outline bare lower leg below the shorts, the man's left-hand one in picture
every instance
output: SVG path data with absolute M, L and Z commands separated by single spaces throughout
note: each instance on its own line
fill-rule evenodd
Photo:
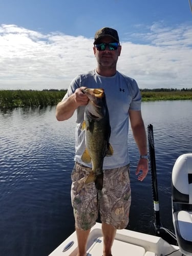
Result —
M 88 241 L 90 230 L 91 229 L 83 230 L 83 229 L 76 228 L 77 243 L 78 243 L 77 256 L 86 256 L 86 247 L 87 247 L 87 241 Z

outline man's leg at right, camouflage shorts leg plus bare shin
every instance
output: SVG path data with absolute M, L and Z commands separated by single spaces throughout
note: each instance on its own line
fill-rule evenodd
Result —
M 112 255 L 111 248 L 116 229 L 125 228 L 129 222 L 131 205 L 129 165 L 104 170 L 103 176 L 103 188 L 98 191 L 98 198 L 100 219 L 103 223 L 103 256 L 109 256 Z

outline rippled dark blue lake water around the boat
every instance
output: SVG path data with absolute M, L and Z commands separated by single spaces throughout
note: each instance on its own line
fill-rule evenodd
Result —
M 192 152 L 192 101 L 142 103 L 154 130 L 160 218 L 173 229 L 170 180 L 178 156 Z M 75 115 L 65 122 L 55 108 L 0 112 L 0 255 L 47 256 L 74 231 L 70 187 Z M 129 134 L 131 230 L 153 234 L 151 173 L 138 182 L 139 157 Z

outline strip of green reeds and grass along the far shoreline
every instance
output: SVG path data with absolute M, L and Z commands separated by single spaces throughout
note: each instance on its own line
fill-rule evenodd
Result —
M 192 100 L 191 89 L 140 89 L 142 101 Z M 0 90 L 0 109 L 56 105 L 67 90 Z

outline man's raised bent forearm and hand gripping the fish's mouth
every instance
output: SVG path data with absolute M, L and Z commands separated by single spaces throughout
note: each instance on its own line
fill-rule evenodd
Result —
M 74 111 L 82 105 L 87 105 L 88 97 L 82 93 L 81 87 L 75 90 L 75 92 L 69 96 L 66 100 L 60 101 L 56 106 L 56 118 L 58 121 L 64 121 L 72 117 Z

